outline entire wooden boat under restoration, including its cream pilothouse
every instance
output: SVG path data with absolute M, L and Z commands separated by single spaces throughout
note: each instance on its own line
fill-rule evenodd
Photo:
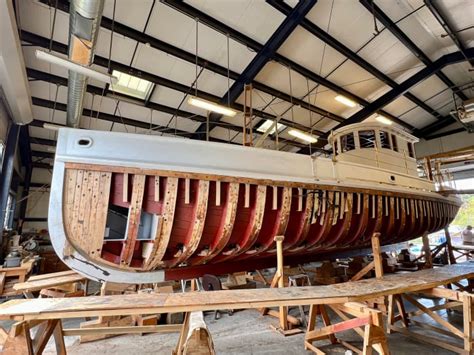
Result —
M 274 264 L 447 226 L 460 206 L 418 177 L 408 133 L 356 124 L 332 159 L 150 135 L 60 129 L 49 228 L 72 269 L 127 283 Z

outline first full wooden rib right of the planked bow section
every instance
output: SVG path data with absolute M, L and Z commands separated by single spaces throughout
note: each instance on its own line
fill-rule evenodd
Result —
M 124 240 L 122 252 L 120 254 L 120 266 L 129 266 L 133 258 L 135 244 L 140 226 L 140 216 L 142 213 L 143 193 L 145 191 L 145 175 L 134 175 L 132 198 L 127 220 L 127 235 Z

